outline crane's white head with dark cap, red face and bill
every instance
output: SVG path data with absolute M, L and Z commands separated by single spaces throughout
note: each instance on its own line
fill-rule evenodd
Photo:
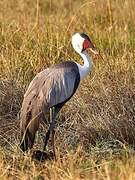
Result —
M 76 33 L 72 36 L 72 46 L 79 54 L 83 53 L 88 48 L 93 54 L 99 54 L 90 38 L 84 33 Z

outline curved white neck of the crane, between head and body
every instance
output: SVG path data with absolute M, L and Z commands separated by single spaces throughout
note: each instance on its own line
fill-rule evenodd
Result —
M 92 68 L 92 59 L 91 57 L 89 57 L 86 51 L 81 52 L 79 54 L 83 58 L 83 61 L 84 61 L 83 65 L 76 63 L 79 68 L 80 79 L 82 80 L 87 76 L 87 74 L 90 72 Z

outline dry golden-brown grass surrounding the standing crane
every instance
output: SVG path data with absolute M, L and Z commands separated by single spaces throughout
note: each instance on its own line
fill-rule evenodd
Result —
M 135 178 L 134 9 L 134 0 L 0 1 L 0 179 Z M 23 94 L 51 64 L 81 63 L 74 32 L 89 34 L 104 60 L 93 60 L 58 117 L 58 160 L 39 163 L 18 148 Z M 41 124 L 35 148 L 45 130 Z

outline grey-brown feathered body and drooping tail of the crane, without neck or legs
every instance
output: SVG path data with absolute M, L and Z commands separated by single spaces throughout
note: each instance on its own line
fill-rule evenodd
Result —
M 23 150 L 32 148 L 41 118 L 44 118 L 53 107 L 55 118 L 65 102 L 75 93 L 79 82 L 78 66 L 72 61 L 65 61 L 47 68 L 31 81 L 24 95 L 20 115 Z

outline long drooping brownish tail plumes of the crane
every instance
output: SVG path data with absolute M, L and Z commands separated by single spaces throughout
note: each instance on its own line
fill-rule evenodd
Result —
M 22 103 L 20 114 L 20 148 L 23 151 L 27 151 L 33 147 L 40 119 L 43 118 L 43 115 L 48 109 L 48 104 L 45 99 L 41 99 L 40 94 L 38 94 L 37 87 L 38 86 L 34 84 L 29 87 Z

